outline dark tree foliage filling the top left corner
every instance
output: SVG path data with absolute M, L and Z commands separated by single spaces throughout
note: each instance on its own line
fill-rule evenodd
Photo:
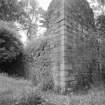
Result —
M 25 14 L 17 0 L 0 0 L 0 19 L 3 21 L 17 21 Z

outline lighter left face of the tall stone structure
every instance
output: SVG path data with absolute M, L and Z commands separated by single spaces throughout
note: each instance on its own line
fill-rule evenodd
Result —
M 59 4 L 59 5 L 58 5 Z M 55 0 L 48 8 L 48 37 L 52 47 L 51 71 L 56 89 L 64 89 L 64 1 Z

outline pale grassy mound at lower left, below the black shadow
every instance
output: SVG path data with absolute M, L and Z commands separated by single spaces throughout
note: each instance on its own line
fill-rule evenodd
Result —
M 0 105 L 28 105 L 33 93 L 35 87 L 30 81 L 0 75 Z

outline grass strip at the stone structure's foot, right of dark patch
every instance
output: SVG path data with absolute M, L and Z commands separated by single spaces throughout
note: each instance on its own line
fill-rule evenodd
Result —
M 44 94 L 44 98 L 55 105 L 105 105 L 105 89 L 103 86 L 89 90 L 86 94 L 71 94 L 61 96 Z

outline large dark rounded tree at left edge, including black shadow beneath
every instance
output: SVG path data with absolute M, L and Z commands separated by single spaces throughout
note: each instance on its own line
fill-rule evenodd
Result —
M 26 76 L 24 48 L 15 25 L 0 22 L 0 72 L 10 76 Z

